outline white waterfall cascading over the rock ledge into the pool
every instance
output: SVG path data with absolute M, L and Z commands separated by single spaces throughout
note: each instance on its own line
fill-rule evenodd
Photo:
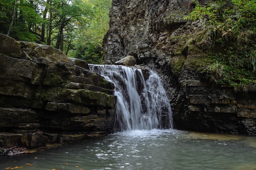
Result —
M 143 75 L 141 69 L 123 65 L 89 66 L 115 84 L 115 131 L 173 128 L 170 102 L 152 70 L 147 69 Z

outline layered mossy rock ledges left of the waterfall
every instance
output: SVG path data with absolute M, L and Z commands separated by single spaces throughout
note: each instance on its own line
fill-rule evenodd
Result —
M 114 85 L 84 61 L 1 34 L 0 60 L 0 147 L 36 148 L 112 131 Z

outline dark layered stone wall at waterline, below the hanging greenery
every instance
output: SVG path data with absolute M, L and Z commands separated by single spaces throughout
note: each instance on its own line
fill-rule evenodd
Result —
M 174 108 L 176 126 L 193 131 L 256 134 L 256 88 L 247 93 L 188 80 Z M 181 100 L 182 99 L 182 100 Z M 185 108 L 185 109 L 184 109 Z

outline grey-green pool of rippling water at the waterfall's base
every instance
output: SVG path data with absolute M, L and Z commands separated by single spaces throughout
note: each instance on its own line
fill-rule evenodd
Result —
M 256 137 L 126 131 L 0 160 L 0 170 L 256 170 Z

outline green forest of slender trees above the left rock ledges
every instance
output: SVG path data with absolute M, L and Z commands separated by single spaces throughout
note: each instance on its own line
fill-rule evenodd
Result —
M 0 0 L 0 33 L 102 63 L 111 0 Z

